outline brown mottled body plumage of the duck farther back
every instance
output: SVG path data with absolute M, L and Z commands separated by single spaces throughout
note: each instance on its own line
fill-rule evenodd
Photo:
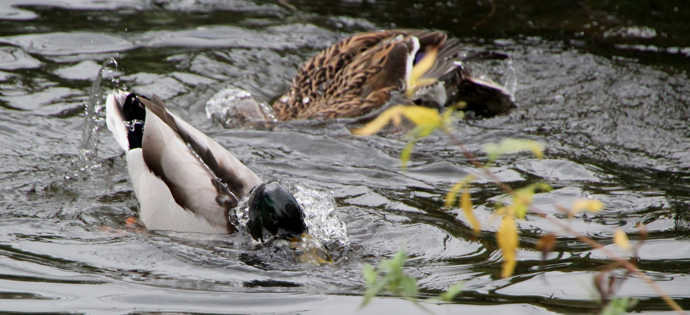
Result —
M 361 116 L 384 105 L 391 92 L 404 92 L 412 62 L 431 49 L 437 50 L 437 58 L 422 78 L 435 79 L 433 85 L 440 87 L 433 93 L 440 88 L 444 95 L 440 100 L 431 96 L 440 104 L 431 103 L 424 95 L 411 101 L 431 106 L 458 101 L 457 86 L 466 77 L 462 61 L 470 57 L 462 55 L 457 39 L 448 39 L 439 31 L 380 30 L 343 39 L 306 61 L 290 90 L 273 103 L 273 110 L 279 120 Z M 493 58 L 505 57 L 501 56 L 494 54 Z

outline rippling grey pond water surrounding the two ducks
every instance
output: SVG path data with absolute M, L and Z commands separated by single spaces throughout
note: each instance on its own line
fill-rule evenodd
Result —
M 633 236 L 646 225 L 640 268 L 690 308 L 690 8 L 571 2 L 2 1 L 0 311 L 353 314 L 362 265 L 405 247 L 421 296 L 465 282 L 454 303 L 428 305 L 437 314 L 595 312 L 593 275 L 609 257 L 541 216 L 520 221 L 515 276 L 500 278 L 497 221 L 475 238 L 462 211 L 443 208 L 449 187 L 478 173 L 447 136 L 420 141 L 403 170 L 399 132 L 355 137 L 333 121 L 224 129 L 206 119 L 206 101 L 223 88 L 270 103 L 318 50 L 391 27 L 440 28 L 509 54 L 477 68 L 502 83 L 514 74 L 517 110 L 457 121 L 457 139 L 482 161 L 486 143 L 544 143 L 544 159 L 510 154 L 492 170 L 511 187 L 552 185 L 535 196 L 549 214 L 600 199 L 600 213 L 554 217 L 620 254 L 615 230 Z M 264 179 L 333 194 L 350 245 L 315 267 L 262 259 L 234 236 L 127 230 L 138 203 L 124 154 L 104 121 L 90 119 L 103 116 L 112 88 L 158 94 Z M 482 221 L 505 197 L 481 179 L 472 193 Z M 560 237 L 542 266 L 533 245 L 548 231 Z M 669 309 L 639 278 L 619 293 L 639 298 L 637 311 Z M 423 311 L 391 296 L 359 312 Z

